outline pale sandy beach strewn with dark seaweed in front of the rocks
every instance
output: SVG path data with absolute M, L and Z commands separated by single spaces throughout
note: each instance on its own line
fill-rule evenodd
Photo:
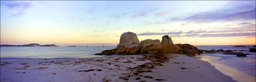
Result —
M 184 54 L 84 59 L 2 60 L 1 81 L 234 81 L 210 63 Z

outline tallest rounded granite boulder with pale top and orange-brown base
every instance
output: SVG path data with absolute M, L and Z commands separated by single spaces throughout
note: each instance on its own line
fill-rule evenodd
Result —
M 116 47 L 116 54 L 139 54 L 140 41 L 133 32 L 125 32 L 121 35 Z

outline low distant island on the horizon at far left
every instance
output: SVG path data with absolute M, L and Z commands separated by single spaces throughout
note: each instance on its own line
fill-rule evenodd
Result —
M 0 45 L 1 47 L 57 47 L 55 44 L 45 44 L 45 45 L 40 45 L 40 44 L 24 44 L 24 45 L 9 45 L 9 44 L 3 44 Z

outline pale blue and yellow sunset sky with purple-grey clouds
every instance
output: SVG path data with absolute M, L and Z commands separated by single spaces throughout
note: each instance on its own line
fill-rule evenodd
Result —
M 1 44 L 255 45 L 255 1 L 1 1 Z

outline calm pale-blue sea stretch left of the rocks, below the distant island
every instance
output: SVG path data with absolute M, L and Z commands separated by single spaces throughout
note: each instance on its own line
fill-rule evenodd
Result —
M 81 58 L 115 47 L 1 47 L 1 59 Z

